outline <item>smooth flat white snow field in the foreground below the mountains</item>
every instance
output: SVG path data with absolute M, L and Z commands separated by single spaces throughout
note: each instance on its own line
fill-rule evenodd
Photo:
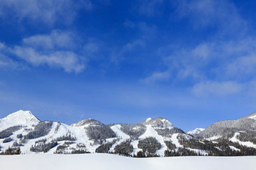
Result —
M 255 162 L 256 156 L 131 158 L 103 153 L 0 155 L 1 170 L 255 170 Z

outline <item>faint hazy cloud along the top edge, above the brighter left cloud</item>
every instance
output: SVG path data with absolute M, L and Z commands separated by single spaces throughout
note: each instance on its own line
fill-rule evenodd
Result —
M 90 0 L 1 0 L 0 17 L 14 18 L 22 21 L 44 22 L 53 24 L 56 21 L 70 23 L 79 9 L 90 10 Z

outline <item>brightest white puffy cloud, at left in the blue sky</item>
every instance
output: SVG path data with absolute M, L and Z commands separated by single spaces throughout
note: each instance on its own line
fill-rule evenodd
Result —
M 76 45 L 75 39 L 68 32 L 54 30 L 50 34 L 24 38 L 19 46 L 5 46 L 0 43 L 0 67 L 18 67 L 23 65 L 23 60 L 33 66 L 48 65 L 66 72 L 79 73 L 86 67 L 87 58 L 73 48 Z M 14 58 L 21 61 L 17 62 Z

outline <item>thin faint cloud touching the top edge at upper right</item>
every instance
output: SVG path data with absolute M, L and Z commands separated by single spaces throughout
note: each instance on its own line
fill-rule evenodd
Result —
M 195 28 L 216 26 L 221 33 L 247 29 L 247 22 L 239 15 L 230 1 L 215 0 L 178 0 L 177 13 L 180 17 L 189 17 Z

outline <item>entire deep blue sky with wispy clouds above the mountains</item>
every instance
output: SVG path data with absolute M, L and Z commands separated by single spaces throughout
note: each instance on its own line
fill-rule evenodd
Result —
M 256 111 L 255 1 L 2 0 L 0 116 L 70 124 Z

